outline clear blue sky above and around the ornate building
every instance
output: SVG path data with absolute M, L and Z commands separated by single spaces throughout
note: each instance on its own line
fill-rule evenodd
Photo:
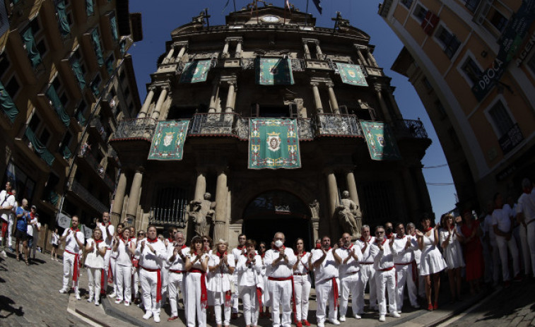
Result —
M 199 15 L 204 8 L 208 8 L 211 15 L 210 25 L 223 25 L 225 14 L 233 10 L 233 0 L 230 0 L 225 12 L 222 13 L 226 0 L 131 0 L 130 12 L 140 12 L 143 21 L 143 40 L 131 47 L 129 53 L 134 59 L 134 70 L 138 82 L 141 102 L 146 96 L 146 83 L 150 83 L 150 74 L 156 71 L 156 61 L 160 54 L 165 51 L 165 42 L 171 40 L 170 33 L 180 25 L 189 23 L 193 16 Z M 235 0 L 236 8 L 246 6 L 252 0 Z M 274 6 L 283 6 L 284 0 L 271 0 Z M 424 123 L 433 144 L 428 148 L 422 160 L 424 167 L 433 167 L 446 164 L 446 158 L 442 147 L 437 139 L 435 129 L 431 124 L 428 114 L 411 83 L 407 78 L 390 70 L 392 63 L 401 51 L 403 44 L 388 27 L 381 16 L 377 15 L 377 8 L 382 1 L 379 0 L 322 0 L 323 14 L 319 15 L 312 0 L 308 11 L 317 18 L 316 24 L 322 27 L 332 28 L 332 17 L 336 11 L 340 11 L 343 18 L 349 20 L 351 25 L 360 28 L 370 35 L 371 44 L 375 44 L 375 58 L 377 63 L 384 68 L 384 73 L 392 77 L 392 85 L 396 87 L 394 96 L 406 119 L 417 119 Z M 300 11 L 305 11 L 306 0 L 290 1 Z M 449 168 L 438 167 L 423 169 L 428 183 L 451 184 L 453 182 Z M 433 186 L 428 185 L 433 210 L 440 218 L 455 206 L 455 189 L 453 185 Z

